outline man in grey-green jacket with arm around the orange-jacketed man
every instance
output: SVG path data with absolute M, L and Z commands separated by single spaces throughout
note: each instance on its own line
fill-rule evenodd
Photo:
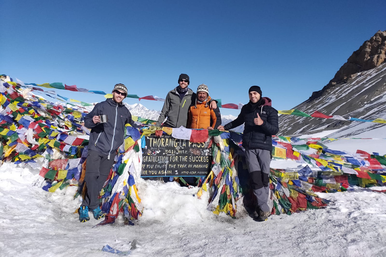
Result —
M 196 101 L 196 93 L 187 87 L 189 83 L 188 75 L 183 73 L 179 75 L 178 86 L 166 95 L 156 126 L 163 123 L 163 126 L 168 127 L 186 127 L 189 106 Z M 211 101 L 211 109 L 216 108 L 216 101 Z

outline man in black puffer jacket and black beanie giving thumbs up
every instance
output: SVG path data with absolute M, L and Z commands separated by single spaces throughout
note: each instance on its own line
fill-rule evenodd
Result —
M 249 88 L 249 103 L 241 108 L 239 116 L 219 130 L 230 130 L 245 123 L 243 147 L 253 193 L 257 198 L 255 220 L 265 221 L 270 216 L 269 165 L 272 158 L 272 135 L 279 131 L 277 110 L 271 107 L 271 99 L 261 97 L 259 86 Z M 257 208 L 258 207 L 258 208 Z

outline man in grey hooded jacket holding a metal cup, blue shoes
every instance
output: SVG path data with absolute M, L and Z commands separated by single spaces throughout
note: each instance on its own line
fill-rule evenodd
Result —
M 116 151 L 124 142 L 125 124 L 137 127 L 122 103 L 127 95 L 126 86 L 116 84 L 112 93 L 113 98 L 97 103 L 84 117 L 84 126 L 91 129 L 91 134 L 84 177 L 87 193 L 79 208 L 80 222 L 89 220 L 88 210 L 92 210 L 95 219 L 104 216 L 99 206 L 99 193 L 113 167 Z M 108 121 L 102 123 L 99 115 L 107 115 Z

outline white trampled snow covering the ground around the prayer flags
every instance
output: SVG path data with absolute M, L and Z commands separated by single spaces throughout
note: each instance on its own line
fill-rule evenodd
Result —
M 383 141 L 328 146 L 386 154 Z M 271 166 L 299 165 L 280 160 Z M 145 209 L 135 225 L 120 215 L 115 224 L 95 226 L 100 220 L 80 223 L 74 213 L 76 187 L 49 193 L 33 186 L 38 178 L 38 170 L 0 167 L 1 256 L 117 255 L 102 251 L 106 244 L 129 256 L 386 256 L 386 194 L 369 189 L 319 193 L 331 201 L 327 208 L 255 222 L 240 204 L 237 219 L 213 214 L 208 195 L 198 199 L 197 188 L 137 181 Z

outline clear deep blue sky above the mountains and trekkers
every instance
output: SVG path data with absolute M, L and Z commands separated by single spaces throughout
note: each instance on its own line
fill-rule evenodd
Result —
M 107 93 L 124 83 L 130 94 L 165 98 L 187 73 L 192 90 L 205 83 L 223 104 L 247 103 L 249 87 L 259 85 L 278 110 L 322 89 L 353 51 L 386 30 L 384 0 L 0 0 L 0 7 L 0 74 Z

